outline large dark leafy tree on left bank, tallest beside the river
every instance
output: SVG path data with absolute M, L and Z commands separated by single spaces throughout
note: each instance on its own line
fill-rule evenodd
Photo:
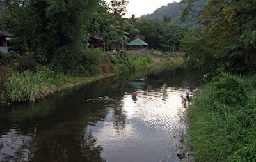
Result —
M 60 71 L 83 64 L 83 38 L 98 0 L 10 1 L 6 25 L 24 38 L 42 64 Z

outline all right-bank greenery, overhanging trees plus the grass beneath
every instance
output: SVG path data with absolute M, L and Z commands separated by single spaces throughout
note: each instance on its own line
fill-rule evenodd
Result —
M 188 3 L 183 20 L 195 1 L 182 0 Z M 202 28 L 190 28 L 181 40 L 186 65 L 207 73 L 209 82 L 188 110 L 195 161 L 256 160 L 255 11 L 253 0 L 209 0 L 200 13 Z

